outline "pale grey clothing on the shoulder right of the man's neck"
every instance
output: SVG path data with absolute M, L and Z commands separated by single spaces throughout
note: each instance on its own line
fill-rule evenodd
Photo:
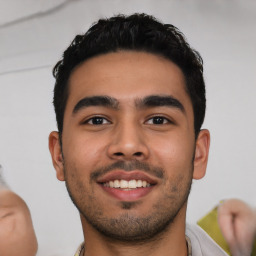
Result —
M 199 226 L 186 224 L 186 235 L 191 240 L 192 255 L 227 256 L 228 254 Z

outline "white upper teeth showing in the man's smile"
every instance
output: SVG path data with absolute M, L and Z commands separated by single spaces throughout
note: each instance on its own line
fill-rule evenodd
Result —
M 104 187 L 110 188 L 122 188 L 124 190 L 134 189 L 134 188 L 146 188 L 150 187 L 151 185 L 147 183 L 145 180 L 111 180 L 109 182 L 103 183 Z

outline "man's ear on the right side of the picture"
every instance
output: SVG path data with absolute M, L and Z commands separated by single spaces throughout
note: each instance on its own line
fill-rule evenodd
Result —
M 193 179 L 199 180 L 205 175 L 209 146 L 210 133 L 208 130 L 201 130 L 196 140 Z

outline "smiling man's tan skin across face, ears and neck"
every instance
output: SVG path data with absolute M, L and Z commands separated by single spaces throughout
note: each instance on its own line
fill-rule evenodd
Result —
M 172 96 L 182 108 L 142 103 L 159 95 Z M 82 99 L 92 96 L 111 97 L 115 106 L 80 104 L 76 109 Z M 100 117 L 99 125 L 95 116 Z M 192 178 L 205 175 L 209 140 L 207 130 L 195 140 L 192 103 L 183 74 L 171 61 L 121 51 L 77 67 L 69 81 L 62 149 L 57 132 L 49 136 L 49 149 L 57 178 L 66 181 L 81 213 L 84 255 L 187 255 L 186 200 Z M 117 162 L 123 167 L 104 172 Z M 152 170 L 159 170 L 159 175 Z M 147 176 L 154 186 L 145 195 L 129 197 L 124 192 L 120 199 L 99 183 L 117 172 Z M 139 234 L 135 223 L 150 226 L 154 234 L 147 237 L 150 230 Z M 156 231 L 159 225 L 165 227 Z

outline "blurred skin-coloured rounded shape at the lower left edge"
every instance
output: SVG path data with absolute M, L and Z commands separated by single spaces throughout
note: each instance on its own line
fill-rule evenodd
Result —
M 29 209 L 10 190 L 0 191 L 0 241 L 0 255 L 36 255 L 38 245 Z

